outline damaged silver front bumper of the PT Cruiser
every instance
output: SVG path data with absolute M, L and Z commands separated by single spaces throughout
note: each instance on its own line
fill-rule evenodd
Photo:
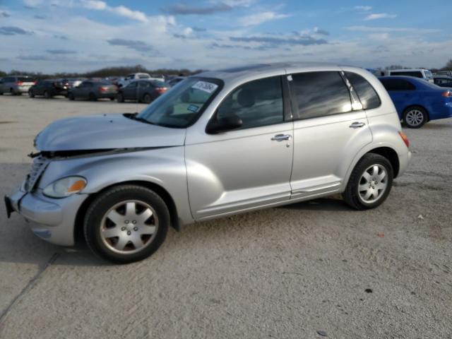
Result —
M 61 246 L 73 246 L 77 212 L 88 194 L 73 194 L 66 198 L 48 198 L 40 189 L 18 190 L 5 196 L 8 218 L 13 212 L 29 222 L 38 237 Z

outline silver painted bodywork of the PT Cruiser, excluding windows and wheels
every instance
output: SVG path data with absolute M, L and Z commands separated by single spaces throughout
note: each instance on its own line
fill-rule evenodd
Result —
M 333 116 L 206 133 L 206 126 L 222 100 L 243 83 L 307 71 L 342 70 L 367 79 L 378 93 L 381 105 L 367 111 L 359 109 Z M 410 152 L 399 135 L 401 127 L 396 109 L 383 85 L 367 71 L 335 65 L 278 64 L 198 76 L 220 78 L 224 85 L 201 117 L 186 129 L 144 124 L 119 114 L 64 119 L 49 125 L 37 136 L 38 150 L 121 149 L 121 153 L 52 159 L 35 192 L 25 197 L 23 193 L 13 195 L 13 208 L 25 218 L 40 223 L 40 232 L 49 230 L 51 235 L 47 240 L 72 244 L 76 215 L 73 211 L 78 210 L 87 196 L 116 184 L 147 182 L 160 186 L 171 196 L 179 224 L 184 225 L 341 193 L 359 159 L 375 148 L 396 151 L 400 164 L 398 175 L 408 166 Z M 350 128 L 353 123 L 361 124 L 362 128 Z M 272 140 L 278 134 L 290 138 Z M 134 150 L 124 150 L 127 148 Z M 61 199 L 40 194 L 48 184 L 72 175 L 88 181 L 81 194 Z M 32 199 L 37 203 L 32 203 Z M 42 210 L 36 206 L 42 206 Z M 48 226 L 59 220 L 55 210 L 70 209 L 71 213 L 58 225 Z

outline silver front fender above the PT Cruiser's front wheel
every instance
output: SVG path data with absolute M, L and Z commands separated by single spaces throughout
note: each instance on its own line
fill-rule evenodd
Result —
M 193 222 L 183 146 L 52 160 L 40 179 L 39 187 L 44 189 L 57 179 L 73 175 L 87 179 L 83 194 L 95 194 L 123 182 L 157 184 L 172 197 L 179 220 L 183 224 Z

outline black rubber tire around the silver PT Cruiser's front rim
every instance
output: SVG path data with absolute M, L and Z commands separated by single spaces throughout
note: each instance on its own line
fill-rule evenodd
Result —
M 105 239 L 102 239 L 102 220 L 104 220 L 105 215 L 111 208 L 131 200 L 142 201 L 153 208 L 158 220 L 157 229 L 155 230 L 155 234 L 148 239 L 148 243 L 145 244 L 141 250 L 132 250 L 134 252 L 131 254 L 124 253 L 124 251 L 123 253 L 118 253 L 117 251 L 114 251 L 114 249 L 110 248 L 114 246 L 114 244 L 107 245 L 105 243 Z M 151 215 L 150 218 L 155 217 Z M 143 186 L 121 185 L 108 189 L 95 198 L 95 200 L 90 204 L 90 207 L 85 214 L 83 231 L 88 246 L 95 254 L 97 254 L 97 256 L 113 263 L 132 263 L 134 261 L 140 261 L 148 258 L 148 256 L 157 251 L 160 245 L 165 241 L 169 223 L 169 211 L 165 201 L 163 201 L 162 198 L 160 198 L 160 196 L 158 196 L 154 191 L 146 189 Z M 125 225 L 126 224 L 124 224 L 124 226 Z M 116 224 L 114 227 L 119 227 L 119 225 Z M 128 230 L 124 231 L 123 228 L 125 227 L 122 227 L 121 224 L 120 231 L 130 234 Z M 123 237 L 123 235 L 121 235 L 121 237 Z M 131 237 L 133 237 L 133 234 Z M 143 237 L 143 235 L 141 235 L 141 237 Z M 109 240 L 110 242 L 112 241 L 111 239 Z M 117 241 L 119 241 L 119 239 L 120 237 L 117 237 Z M 132 243 L 127 242 L 126 246 L 132 246 Z

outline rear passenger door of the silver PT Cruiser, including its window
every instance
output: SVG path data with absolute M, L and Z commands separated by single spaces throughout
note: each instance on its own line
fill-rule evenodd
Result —
M 341 71 L 288 76 L 295 120 L 292 198 L 337 191 L 352 160 L 372 141 L 366 112 L 344 76 Z

